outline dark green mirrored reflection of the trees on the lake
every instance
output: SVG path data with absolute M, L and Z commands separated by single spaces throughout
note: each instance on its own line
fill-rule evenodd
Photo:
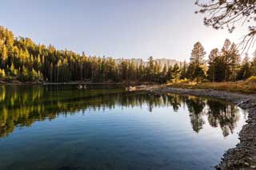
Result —
M 78 90 L 72 86 L 0 86 L 0 137 L 14 132 L 15 127 L 30 126 L 34 121 L 52 120 L 82 110 L 114 109 L 115 106 L 170 106 L 174 111 L 188 109 L 191 127 L 200 132 L 208 121 L 221 128 L 223 136 L 234 132 L 239 114 L 234 105 L 202 97 L 168 93 L 154 97 L 145 93 L 125 93 L 123 89 Z M 204 119 L 204 117 L 207 117 Z

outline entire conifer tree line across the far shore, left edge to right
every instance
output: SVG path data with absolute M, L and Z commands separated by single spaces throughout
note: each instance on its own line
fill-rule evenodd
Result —
M 20 81 L 46 82 L 177 82 L 238 81 L 256 75 L 256 53 L 250 60 L 241 61 L 237 45 L 226 39 L 222 49 L 206 52 L 200 42 L 192 49 L 190 62 L 162 65 L 149 57 L 145 63 L 112 57 L 95 57 L 58 50 L 53 45 L 36 45 L 30 38 L 14 38 L 7 28 L 0 26 L 0 77 Z

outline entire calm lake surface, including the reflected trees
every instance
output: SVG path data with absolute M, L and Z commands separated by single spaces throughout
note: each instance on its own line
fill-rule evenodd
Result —
M 245 120 L 203 97 L 0 86 L 0 169 L 210 169 Z

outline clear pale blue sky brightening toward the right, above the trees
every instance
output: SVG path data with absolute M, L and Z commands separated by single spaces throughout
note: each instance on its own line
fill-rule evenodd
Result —
M 206 52 L 234 34 L 203 25 L 195 0 L 8 0 L 1 2 L 0 25 L 16 36 L 58 49 L 107 57 L 189 60 L 195 42 Z

